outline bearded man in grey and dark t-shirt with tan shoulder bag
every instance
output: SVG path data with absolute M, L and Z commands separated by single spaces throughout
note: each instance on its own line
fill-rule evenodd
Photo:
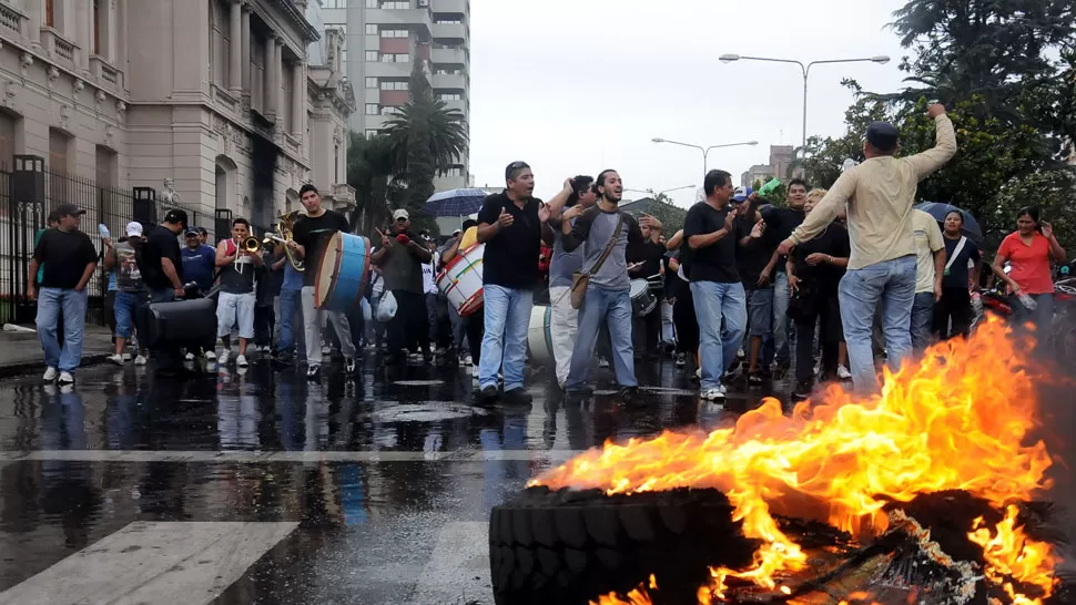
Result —
M 590 359 L 598 342 L 598 330 L 606 324 L 612 339 L 612 362 L 620 394 L 628 403 L 636 399 L 639 387 L 631 346 L 628 258 L 642 257 L 644 239 L 635 217 L 619 208 L 623 194 L 620 175 L 616 171 L 602 171 L 597 185 L 600 196 L 598 204 L 586 209 L 577 205 L 566 212 L 560 227 L 566 252 L 586 245 L 582 270 L 590 275 L 586 301 L 579 312 L 579 335 L 571 351 L 571 369 L 565 390 L 577 397 L 583 392 Z M 577 217 L 578 221 L 573 221 Z M 643 217 L 642 221 L 649 227 L 653 219 Z

